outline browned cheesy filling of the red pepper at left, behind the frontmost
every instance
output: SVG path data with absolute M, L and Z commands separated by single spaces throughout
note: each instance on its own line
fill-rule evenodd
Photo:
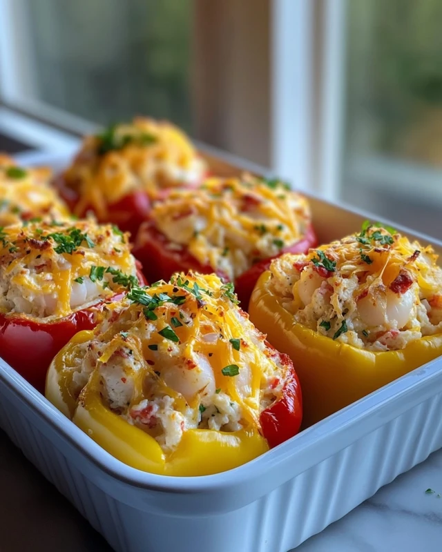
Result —
M 0 232 L 0 312 L 58 318 L 138 283 L 128 235 L 94 221 Z

